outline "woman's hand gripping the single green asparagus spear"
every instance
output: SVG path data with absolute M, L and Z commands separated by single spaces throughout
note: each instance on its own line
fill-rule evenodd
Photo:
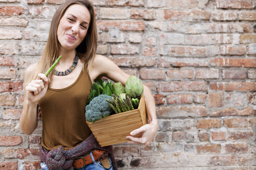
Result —
M 48 88 L 48 78 L 40 73 L 36 80 L 32 80 L 25 87 L 28 104 L 38 104 L 41 98 L 44 97 Z

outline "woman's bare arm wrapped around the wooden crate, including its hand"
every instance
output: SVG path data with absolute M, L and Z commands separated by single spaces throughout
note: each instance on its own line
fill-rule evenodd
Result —
M 98 76 L 103 75 L 113 81 L 121 82 L 124 86 L 127 78 L 129 77 L 129 75 L 123 72 L 123 70 L 121 70 L 115 63 L 102 55 L 96 55 L 93 62 L 93 70 L 92 72 L 90 72 L 89 75 L 93 81 Z M 129 143 L 149 145 L 158 130 L 158 121 L 157 119 L 155 119 L 156 104 L 150 89 L 145 85 L 143 95 L 145 97 L 148 118 L 153 119 L 152 121 L 150 121 L 150 124 L 146 124 L 139 129 L 134 130 L 133 132 L 131 132 L 131 136 L 127 136 L 126 138 L 132 140 Z M 133 137 L 133 135 L 136 135 L 138 133 L 143 133 L 143 136 L 141 138 Z

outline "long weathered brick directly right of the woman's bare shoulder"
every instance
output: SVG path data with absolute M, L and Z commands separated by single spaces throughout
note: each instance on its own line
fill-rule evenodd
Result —
M 124 67 L 149 67 L 155 65 L 155 60 L 137 57 L 110 58 L 114 63 Z

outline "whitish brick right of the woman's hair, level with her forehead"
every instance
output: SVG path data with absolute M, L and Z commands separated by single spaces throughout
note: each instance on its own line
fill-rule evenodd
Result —
M 102 19 L 126 19 L 127 9 L 124 8 L 100 8 Z

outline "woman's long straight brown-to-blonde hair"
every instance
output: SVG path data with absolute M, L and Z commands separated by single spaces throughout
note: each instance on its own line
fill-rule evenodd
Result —
M 49 69 L 49 67 L 53 65 L 55 60 L 57 60 L 59 52 L 59 43 L 57 38 L 59 21 L 62 18 L 63 14 L 66 12 L 67 8 L 73 4 L 84 5 L 90 13 L 91 20 L 89 22 L 87 34 L 82 43 L 78 47 L 76 47 L 75 50 L 79 54 L 80 60 L 84 62 L 83 69 L 87 68 L 87 72 L 92 69 L 92 62 L 97 50 L 97 27 L 94 8 L 92 3 L 87 0 L 70 0 L 63 3 L 55 12 L 52 23 L 50 25 L 49 37 L 44 48 L 42 57 L 28 82 L 36 79 L 39 73 L 45 73 L 47 69 Z M 52 74 L 49 75 L 49 79 L 52 77 Z

